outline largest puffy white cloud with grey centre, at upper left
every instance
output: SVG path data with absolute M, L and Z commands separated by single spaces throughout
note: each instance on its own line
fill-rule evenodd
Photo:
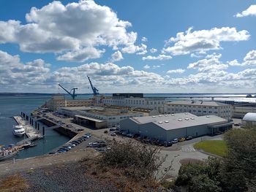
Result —
M 127 32 L 132 24 L 94 1 L 67 5 L 53 1 L 41 9 L 32 7 L 26 21 L 24 25 L 16 20 L 0 21 L 0 43 L 17 43 L 25 52 L 57 53 L 60 60 L 67 61 L 99 58 L 99 46 L 114 50 L 136 47 L 137 33 Z

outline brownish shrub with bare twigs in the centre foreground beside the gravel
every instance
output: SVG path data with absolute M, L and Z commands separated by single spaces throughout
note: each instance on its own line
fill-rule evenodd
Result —
M 165 161 L 160 158 L 159 147 L 152 147 L 135 142 L 132 139 L 124 142 L 115 140 L 108 143 L 110 150 L 102 153 L 99 165 L 121 169 L 125 175 L 137 179 L 155 179 L 156 172 Z M 168 167 L 166 170 L 170 170 Z

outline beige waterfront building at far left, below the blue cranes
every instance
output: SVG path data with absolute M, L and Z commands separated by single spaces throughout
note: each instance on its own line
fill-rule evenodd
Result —
M 54 94 L 52 98 L 46 101 L 45 106 L 52 111 L 58 110 L 60 107 L 79 107 L 90 106 L 94 104 L 93 99 L 65 99 L 64 94 Z

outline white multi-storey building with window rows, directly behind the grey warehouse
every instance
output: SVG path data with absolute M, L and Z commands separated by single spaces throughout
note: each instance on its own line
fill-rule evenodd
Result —
M 231 120 L 233 108 L 230 104 L 217 101 L 173 101 L 165 103 L 164 113 L 190 112 L 197 116 L 217 115 L 220 118 Z

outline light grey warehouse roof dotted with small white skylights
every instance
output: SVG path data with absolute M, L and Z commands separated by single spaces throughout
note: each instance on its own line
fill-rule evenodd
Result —
M 140 118 L 129 118 L 138 124 L 154 123 L 165 130 L 186 128 L 191 126 L 214 125 L 217 123 L 227 123 L 224 118 L 219 118 L 216 115 L 196 116 L 189 112 L 155 115 Z

